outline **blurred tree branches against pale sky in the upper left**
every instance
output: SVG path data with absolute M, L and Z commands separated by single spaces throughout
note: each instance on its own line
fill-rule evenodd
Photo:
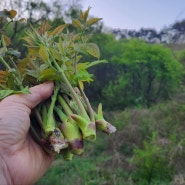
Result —
M 27 27 L 40 24 L 43 21 L 54 21 L 57 19 L 60 20 L 60 23 L 71 18 L 71 16 L 76 11 L 80 10 L 80 1 L 64 1 L 64 0 L 7 0 L 0 1 L 0 6 L 2 9 L 14 9 L 17 11 L 17 19 L 24 17 L 26 19 L 26 24 L 19 25 L 17 22 L 14 22 L 11 25 L 11 40 L 17 39 L 17 34 Z M 77 14 L 76 13 L 76 14 Z

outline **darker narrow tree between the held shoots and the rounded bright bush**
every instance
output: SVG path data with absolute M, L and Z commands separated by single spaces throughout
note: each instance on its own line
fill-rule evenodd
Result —
M 94 75 L 95 83 L 87 84 L 88 97 L 96 102 L 102 99 L 102 91 L 109 84 L 109 81 L 114 81 L 117 78 L 117 66 L 115 63 L 120 59 L 123 52 L 122 42 L 117 41 L 113 35 L 95 32 L 91 40 L 95 42 L 101 52 L 101 59 L 107 60 L 107 64 L 95 66 L 90 71 Z M 86 61 L 90 59 L 87 57 Z

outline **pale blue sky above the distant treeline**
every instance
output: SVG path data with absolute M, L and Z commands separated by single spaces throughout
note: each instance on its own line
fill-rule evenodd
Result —
M 82 0 L 110 28 L 157 31 L 185 19 L 185 0 Z

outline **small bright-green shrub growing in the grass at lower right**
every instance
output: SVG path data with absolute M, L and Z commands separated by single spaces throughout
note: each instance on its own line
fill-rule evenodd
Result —
M 168 151 L 157 143 L 157 134 L 153 132 L 149 141 L 143 142 L 143 147 L 136 147 L 132 163 L 136 165 L 133 173 L 134 181 L 139 184 L 152 184 L 153 181 L 170 182 L 173 168 L 169 165 Z

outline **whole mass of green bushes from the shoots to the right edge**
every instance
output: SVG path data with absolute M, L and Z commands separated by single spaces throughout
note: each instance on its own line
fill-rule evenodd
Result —
M 102 96 L 107 108 L 150 107 L 170 99 L 181 84 L 183 66 L 169 48 L 105 34 L 96 39 L 109 63 L 95 69 L 98 83 L 92 84 L 90 95 L 95 101 Z

